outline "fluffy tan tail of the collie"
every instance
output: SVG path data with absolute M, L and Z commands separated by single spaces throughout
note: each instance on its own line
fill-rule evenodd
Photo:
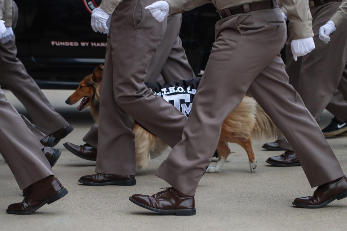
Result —
M 273 123 L 272 119 L 256 104 L 255 124 L 252 130 L 253 139 L 273 139 L 282 133 Z

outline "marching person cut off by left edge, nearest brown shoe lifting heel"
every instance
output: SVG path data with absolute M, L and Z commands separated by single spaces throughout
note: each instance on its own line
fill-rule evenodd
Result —
M 8 11 L 3 12 L 2 9 L 9 9 L 10 5 L 11 0 L 0 0 L 0 19 L 5 19 L 6 26 L 11 26 L 11 21 L 8 21 Z M 0 20 L 0 39 L 6 33 L 3 22 Z M 3 68 L 1 66 L 0 72 Z M 1 88 L 0 118 L 0 153 L 15 176 L 19 188 L 24 191 L 23 201 L 9 205 L 6 211 L 27 215 L 64 197 L 68 192 L 54 177 L 49 161 L 42 155 L 43 145 L 6 100 Z

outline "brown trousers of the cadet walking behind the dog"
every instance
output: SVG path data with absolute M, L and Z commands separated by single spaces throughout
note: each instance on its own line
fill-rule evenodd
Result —
M 181 39 L 178 36 L 181 22 L 181 14 L 168 18 L 164 37 L 152 57 L 145 76 L 145 82 L 164 83 L 195 78 L 182 47 Z M 94 124 L 83 137 L 83 141 L 97 148 L 98 130 L 98 124 Z

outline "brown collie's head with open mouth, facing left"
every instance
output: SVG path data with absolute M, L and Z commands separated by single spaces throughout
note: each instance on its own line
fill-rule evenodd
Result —
M 89 107 L 95 100 L 96 89 L 101 83 L 104 65 L 99 65 L 93 73 L 85 77 L 78 85 L 77 90 L 65 101 L 69 105 L 76 104 L 82 99 L 81 104 L 77 107 L 80 112 Z

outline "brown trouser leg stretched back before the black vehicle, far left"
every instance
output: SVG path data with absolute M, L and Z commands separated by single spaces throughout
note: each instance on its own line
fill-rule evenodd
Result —
M 13 2 L 12 17 L 12 28 L 15 28 L 18 20 L 18 8 L 15 2 Z M 5 44 L 0 43 L 0 82 L 22 102 L 33 123 L 40 126 L 43 133 L 51 134 L 64 127 L 67 121 L 54 110 L 16 55 L 15 36 Z

